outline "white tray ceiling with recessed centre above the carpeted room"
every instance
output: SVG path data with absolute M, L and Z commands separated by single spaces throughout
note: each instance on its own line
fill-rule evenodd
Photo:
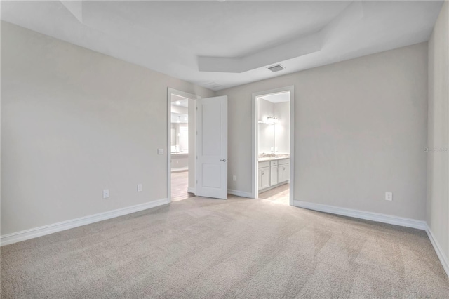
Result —
M 427 41 L 441 1 L 1 1 L 1 20 L 220 90 Z M 286 69 L 267 69 L 280 63 Z

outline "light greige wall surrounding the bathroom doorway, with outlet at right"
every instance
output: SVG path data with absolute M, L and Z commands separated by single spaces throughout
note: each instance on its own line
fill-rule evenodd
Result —
M 295 199 L 424 220 L 427 43 L 218 91 L 228 95 L 229 189 L 251 192 L 252 93 L 290 85 Z

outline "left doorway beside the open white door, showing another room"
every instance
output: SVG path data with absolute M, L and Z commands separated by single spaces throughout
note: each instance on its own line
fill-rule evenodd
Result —
M 195 192 L 195 107 L 200 97 L 168 88 L 168 199 L 180 201 Z

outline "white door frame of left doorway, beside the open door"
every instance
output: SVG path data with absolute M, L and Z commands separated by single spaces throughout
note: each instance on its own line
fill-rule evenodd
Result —
M 191 100 L 195 101 L 195 109 L 194 109 L 194 115 L 191 119 L 189 117 L 189 126 L 194 126 L 196 131 L 196 100 L 200 99 L 201 96 L 194 95 L 192 93 L 186 93 L 185 91 L 178 91 L 175 88 L 167 88 L 167 199 L 168 202 L 171 202 L 171 95 L 180 95 L 185 98 L 189 98 Z M 190 138 L 194 139 L 194 154 L 196 154 L 196 135 L 189 134 L 189 140 Z M 192 152 L 189 150 L 189 157 Z M 189 175 L 190 175 L 191 169 L 189 169 Z M 194 184 L 196 188 L 196 168 L 195 168 L 195 178 L 194 178 Z M 187 187 L 189 188 L 189 187 Z M 187 190 L 187 192 L 195 192 L 195 190 Z

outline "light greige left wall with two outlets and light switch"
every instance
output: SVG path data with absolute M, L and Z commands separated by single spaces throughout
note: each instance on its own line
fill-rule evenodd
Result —
M 1 22 L 1 234 L 166 198 L 168 87 L 214 95 Z

